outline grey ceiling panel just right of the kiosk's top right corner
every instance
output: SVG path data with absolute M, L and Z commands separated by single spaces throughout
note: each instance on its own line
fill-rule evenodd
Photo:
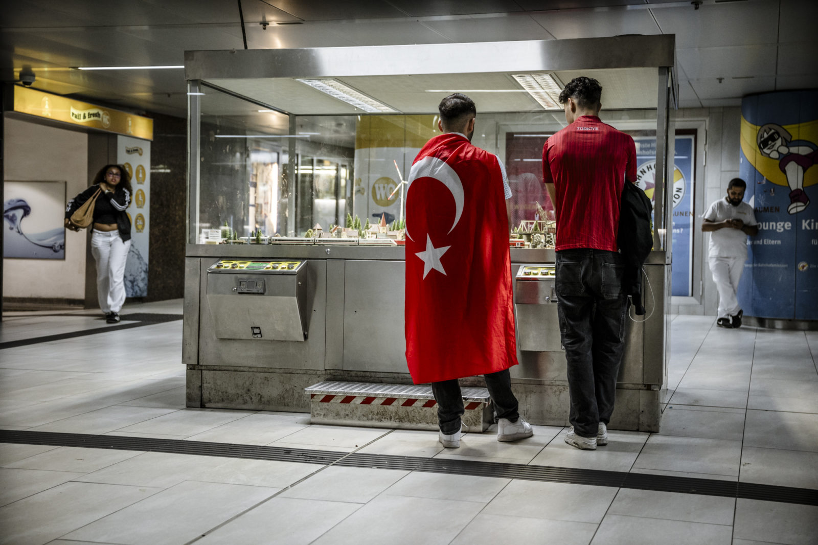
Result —
M 676 49 L 676 59 L 690 79 L 775 74 L 775 47 Z

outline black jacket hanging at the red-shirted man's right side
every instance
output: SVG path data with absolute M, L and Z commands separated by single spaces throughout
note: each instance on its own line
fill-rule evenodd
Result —
M 625 182 L 619 205 L 619 230 L 617 244 L 625 262 L 622 291 L 631 296 L 634 311 L 645 314 L 642 304 L 642 265 L 654 247 L 654 234 L 650 228 L 653 205 L 636 184 Z

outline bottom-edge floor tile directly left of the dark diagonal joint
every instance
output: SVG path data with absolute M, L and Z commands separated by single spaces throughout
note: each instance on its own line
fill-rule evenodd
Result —
M 63 537 L 128 545 L 178 545 L 263 502 L 277 490 L 187 481 Z

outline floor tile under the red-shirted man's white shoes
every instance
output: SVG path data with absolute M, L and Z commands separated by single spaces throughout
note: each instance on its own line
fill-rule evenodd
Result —
M 565 433 L 567 432 L 558 435 L 529 464 L 532 466 L 630 471 L 649 435 L 638 431 L 609 430 L 609 443 L 591 452 L 566 444 Z

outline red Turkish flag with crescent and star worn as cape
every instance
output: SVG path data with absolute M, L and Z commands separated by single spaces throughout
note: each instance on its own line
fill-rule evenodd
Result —
M 508 218 L 497 157 L 442 134 L 407 189 L 406 340 L 415 384 L 517 364 Z

